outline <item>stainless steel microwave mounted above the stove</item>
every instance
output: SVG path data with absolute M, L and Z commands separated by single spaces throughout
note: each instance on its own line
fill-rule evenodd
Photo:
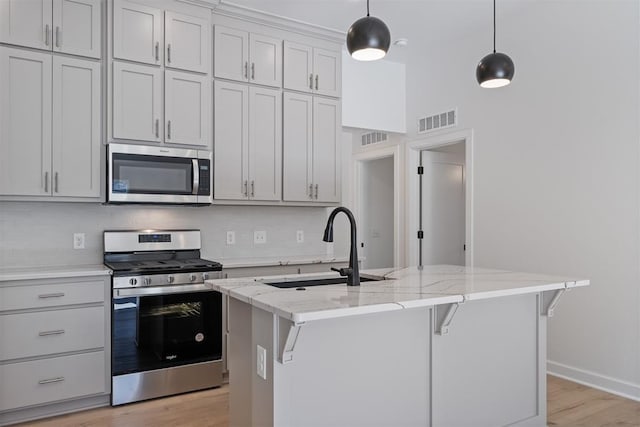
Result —
M 211 204 L 212 164 L 210 151 L 109 144 L 107 202 Z

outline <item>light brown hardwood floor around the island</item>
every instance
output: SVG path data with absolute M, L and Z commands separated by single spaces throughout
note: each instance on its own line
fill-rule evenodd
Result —
M 547 377 L 549 426 L 640 426 L 640 402 Z M 227 427 L 228 387 L 21 424 L 33 427 Z

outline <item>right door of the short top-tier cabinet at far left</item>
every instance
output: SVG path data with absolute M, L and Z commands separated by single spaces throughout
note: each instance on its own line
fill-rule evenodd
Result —
M 53 50 L 100 58 L 100 1 L 53 0 Z

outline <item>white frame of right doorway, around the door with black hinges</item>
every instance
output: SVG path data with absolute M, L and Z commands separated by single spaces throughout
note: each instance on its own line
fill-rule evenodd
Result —
M 459 142 L 465 143 L 465 265 L 474 265 L 474 216 L 473 216 L 473 129 L 462 129 L 454 132 L 444 132 L 432 136 L 421 137 L 409 141 L 406 151 L 406 222 L 407 232 L 405 235 L 405 251 L 409 265 L 418 264 L 418 224 L 419 224 L 419 203 L 420 197 L 418 180 L 416 179 L 418 166 L 420 165 L 420 152 L 431 150 L 446 145 L 453 145 Z

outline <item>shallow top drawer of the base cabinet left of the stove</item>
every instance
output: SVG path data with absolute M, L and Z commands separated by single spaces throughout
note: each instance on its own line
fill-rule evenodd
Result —
M 0 311 L 104 301 L 102 280 L 0 287 Z

